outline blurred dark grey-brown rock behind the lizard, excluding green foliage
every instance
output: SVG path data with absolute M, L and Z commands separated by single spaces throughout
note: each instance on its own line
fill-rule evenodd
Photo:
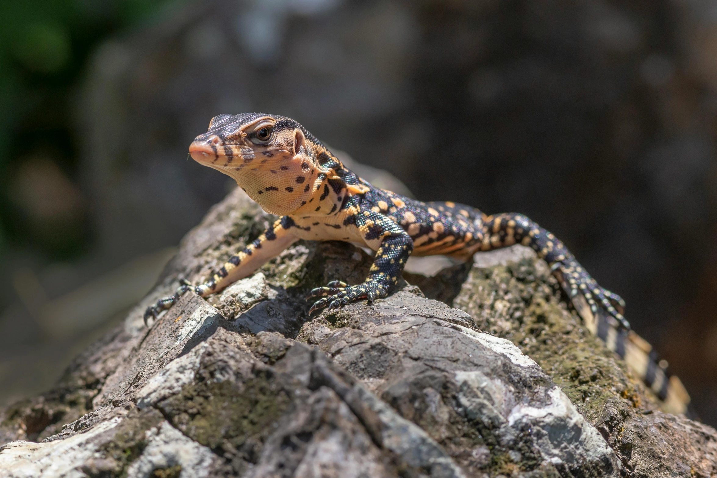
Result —
M 55 207 L 84 211 L 82 237 L 92 238 L 73 277 L 176 244 L 227 193 L 225 176 L 185 161 L 212 116 L 287 115 L 419 199 L 520 211 L 553 231 L 625 297 L 637 333 L 717 424 L 713 9 L 665 0 L 175 4 L 100 44 L 73 97 L 80 186 Z M 45 214 L 34 201 L 19 210 Z M 47 264 L 23 254 L 12 263 Z

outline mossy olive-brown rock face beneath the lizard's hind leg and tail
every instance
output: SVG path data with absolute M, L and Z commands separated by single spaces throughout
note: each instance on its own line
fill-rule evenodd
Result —
M 611 398 L 655 407 L 625 363 L 582 327 L 544 262 L 474 267 L 453 305 L 536 360 L 589 421 L 597 421 Z

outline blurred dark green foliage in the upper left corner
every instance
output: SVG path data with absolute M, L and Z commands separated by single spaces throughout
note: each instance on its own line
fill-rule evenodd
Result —
M 81 211 L 87 205 L 73 192 L 80 191 L 72 125 L 77 86 L 99 42 L 175 2 L 0 0 L 0 254 L 19 247 L 67 259 L 90 244 Z M 54 193 L 38 200 L 48 188 Z M 80 199 L 63 211 L 80 212 L 48 223 L 58 216 L 53 201 L 67 194 Z

